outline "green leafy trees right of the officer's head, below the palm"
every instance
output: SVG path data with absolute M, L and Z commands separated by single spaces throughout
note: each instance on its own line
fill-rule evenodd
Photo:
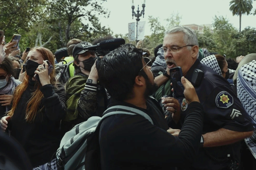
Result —
M 213 27 L 214 33 L 204 28 L 204 33 L 198 35 L 199 48 L 231 58 L 256 52 L 255 28 L 247 27 L 239 33 L 223 16 L 215 16 Z

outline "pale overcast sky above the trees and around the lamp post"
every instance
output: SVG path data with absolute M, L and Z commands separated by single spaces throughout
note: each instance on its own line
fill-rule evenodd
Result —
M 137 11 L 139 5 L 144 0 L 134 0 L 134 6 Z M 165 26 L 165 19 L 173 12 L 182 16 L 181 25 L 185 24 L 212 24 L 215 15 L 224 16 L 230 23 L 239 29 L 239 16 L 232 16 L 229 11 L 229 2 L 231 0 L 146 0 L 145 15 L 141 16 L 140 21 L 146 21 L 145 35 L 150 35 L 148 16 L 159 17 L 160 22 Z M 256 1 L 253 2 L 253 8 L 256 8 Z M 132 19 L 132 0 L 107 0 L 103 2 L 103 7 L 110 11 L 108 19 L 100 18 L 103 26 L 110 27 L 114 34 L 128 33 L 128 23 L 136 22 Z M 134 9 L 134 11 L 135 11 Z M 256 27 L 256 15 L 242 15 L 243 30 L 245 27 Z

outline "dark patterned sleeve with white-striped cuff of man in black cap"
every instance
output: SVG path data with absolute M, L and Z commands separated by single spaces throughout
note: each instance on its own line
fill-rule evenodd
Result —
M 78 113 L 86 121 L 97 108 L 97 84 L 86 83 L 78 101 Z

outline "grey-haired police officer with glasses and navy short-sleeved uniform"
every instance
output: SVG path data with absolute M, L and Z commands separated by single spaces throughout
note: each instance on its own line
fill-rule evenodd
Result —
M 253 126 L 228 81 L 200 63 L 197 36 L 191 28 L 168 29 L 163 50 L 167 67 L 181 67 L 189 81 L 192 81 L 194 69 L 204 72 L 200 85 L 195 87 L 205 112 L 201 148 L 190 169 L 219 170 L 239 166 L 239 141 L 253 134 Z M 188 106 L 185 98 L 163 98 L 162 103 L 173 113 L 169 125 L 180 129 Z

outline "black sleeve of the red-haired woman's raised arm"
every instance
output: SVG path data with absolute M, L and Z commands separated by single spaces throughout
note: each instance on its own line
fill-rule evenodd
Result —
M 44 95 L 42 103 L 45 113 L 50 120 L 61 120 L 66 113 L 66 91 L 61 84 L 53 87 L 47 84 L 40 88 Z

